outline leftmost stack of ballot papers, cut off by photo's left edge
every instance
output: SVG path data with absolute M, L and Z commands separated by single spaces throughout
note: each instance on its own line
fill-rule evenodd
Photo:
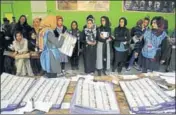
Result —
M 25 104 L 21 101 L 34 83 L 34 78 L 3 73 L 1 75 L 1 112 L 24 107 Z

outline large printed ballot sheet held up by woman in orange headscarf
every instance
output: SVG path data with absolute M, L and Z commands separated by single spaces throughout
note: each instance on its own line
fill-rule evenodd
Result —
M 74 49 L 76 41 L 77 41 L 77 38 L 75 36 L 69 34 L 68 32 L 61 34 L 59 36 L 58 40 L 60 40 L 61 38 L 64 38 L 64 42 L 63 42 L 63 45 L 61 46 L 61 48 L 59 48 L 59 50 L 63 54 L 71 57 L 72 53 L 73 53 L 73 49 Z

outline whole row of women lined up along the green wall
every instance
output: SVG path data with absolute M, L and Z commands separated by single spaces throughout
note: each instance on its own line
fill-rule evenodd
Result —
M 24 15 L 11 25 L 4 19 L 0 34 L 3 38 L 0 57 L 3 57 L 1 61 L 4 63 L 1 63 L 0 72 L 23 76 L 45 72 L 49 78 L 56 77 L 59 73 L 65 75 L 68 56 L 58 50 L 64 42 L 59 36 L 65 32 L 77 38 L 70 57 L 73 70 L 79 69 L 81 53 L 86 74 L 97 70 L 99 76 L 102 73 L 106 75 L 111 65 L 112 72 L 117 69 L 120 74 L 123 67 L 130 71 L 133 64 L 142 72 L 158 71 L 160 64 L 166 64 L 166 71 L 175 70 L 175 30 L 169 37 L 167 20 L 161 16 L 154 17 L 151 22 L 147 17 L 140 19 L 131 31 L 127 28 L 127 19 L 121 17 L 114 33 L 107 16 L 100 18 L 101 25 L 98 27 L 95 18 L 89 15 L 82 31 L 79 30 L 77 21 L 72 21 L 71 29 L 68 30 L 63 24 L 63 17 L 56 16 L 55 20 L 55 26 L 51 28 L 51 24 L 47 25 L 41 18 L 34 19 L 32 27 Z M 38 52 L 40 58 L 14 59 L 5 55 L 4 51 L 13 51 L 13 55 Z

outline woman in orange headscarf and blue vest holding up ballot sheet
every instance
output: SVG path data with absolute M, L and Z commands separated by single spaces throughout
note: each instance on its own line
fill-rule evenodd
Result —
M 39 47 L 42 51 L 40 62 L 42 69 L 46 72 L 46 77 L 55 78 L 61 73 L 60 66 L 60 48 L 64 42 L 61 38 L 58 40 L 55 37 L 53 29 L 56 28 L 56 16 L 47 16 L 42 19 L 40 24 Z

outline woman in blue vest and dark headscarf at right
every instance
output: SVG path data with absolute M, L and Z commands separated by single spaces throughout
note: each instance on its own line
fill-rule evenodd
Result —
M 139 58 L 142 72 L 158 71 L 168 56 L 169 42 L 164 31 L 164 18 L 154 17 L 151 25 L 152 29 L 144 33 L 144 45 Z

